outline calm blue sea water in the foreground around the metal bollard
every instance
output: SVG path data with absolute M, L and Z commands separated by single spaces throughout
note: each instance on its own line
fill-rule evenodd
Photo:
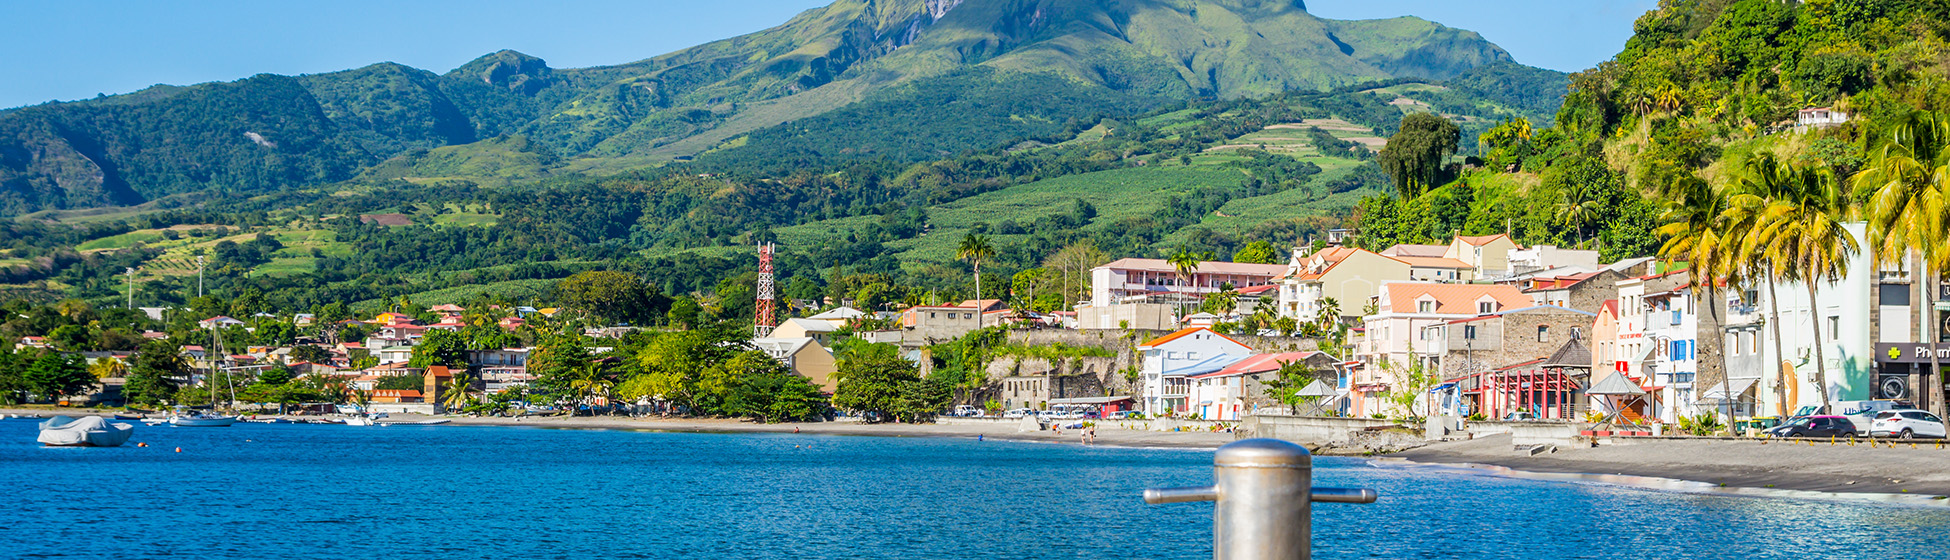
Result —
M 1211 558 L 1209 451 L 534 427 L 0 421 L 0 558 Z M 181 447 L 181 453 L 174 453 Z M 1950 558 L 1950 511 L 1318 459 L 1316 558 Z

